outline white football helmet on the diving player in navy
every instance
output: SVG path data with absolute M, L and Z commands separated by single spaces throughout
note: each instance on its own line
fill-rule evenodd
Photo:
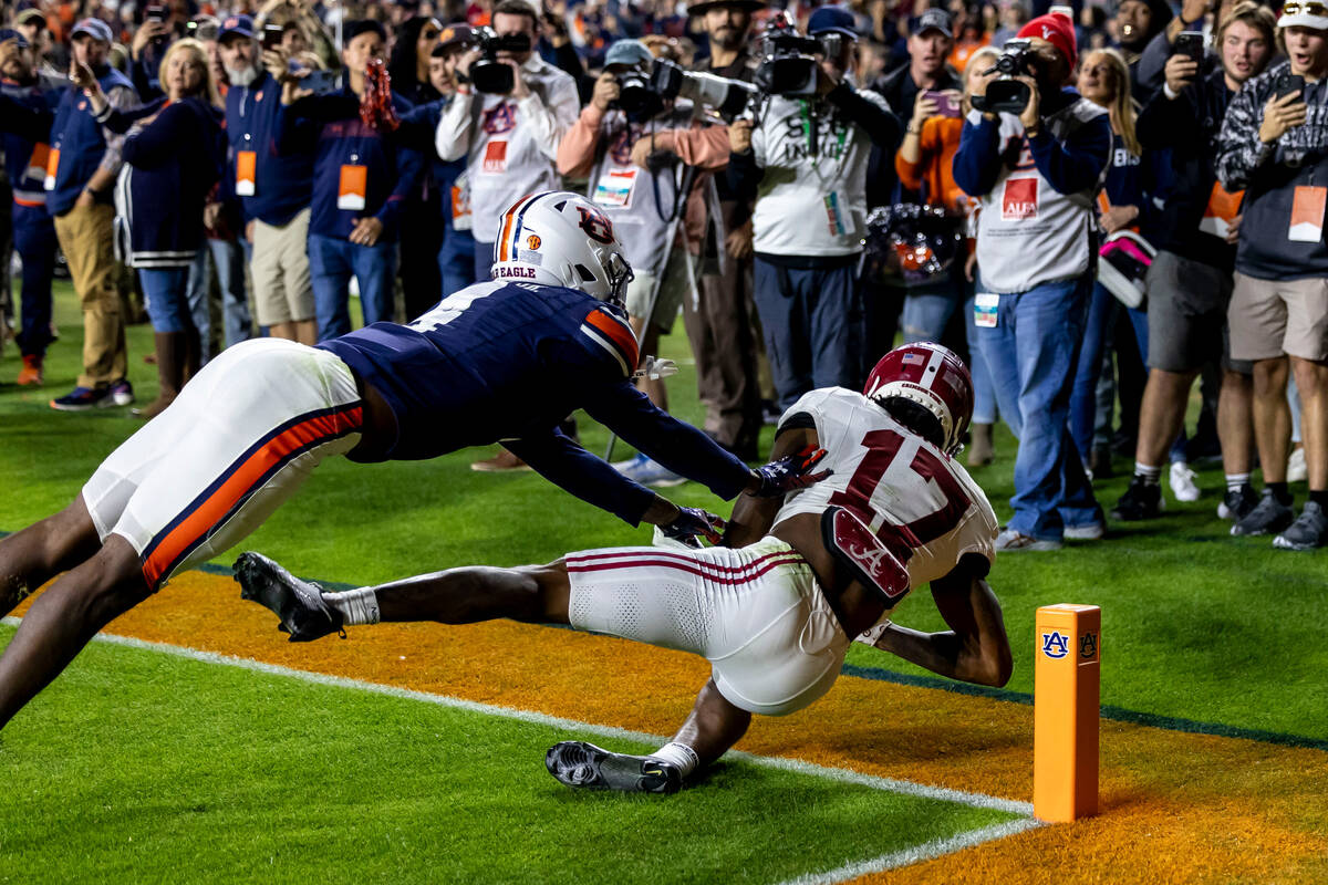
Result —
M 502 214 L 494 241 L 495 280 L 579 289 L 622 305 L 632 267 L 604 211 L 580 194 L 529 194 Z

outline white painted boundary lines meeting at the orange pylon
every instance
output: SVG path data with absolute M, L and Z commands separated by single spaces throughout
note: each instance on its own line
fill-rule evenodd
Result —
M 21 618 L 16 617 L 0 618 L 0 624 L 7 624 L 9 626 L 19 626 Z M 295 670 L 275 663 L 264 663 L 263 661 L 254 661 L 251 658 L 236 658 L 228 654 L 216 654 L 215 651 L 201 651 L 198 649 L 190 649 L 181 645 L 170 645 L 167 642 L 147 642 L 146 640 L 137 640 L 134 637 L 127 637 L 127 636 L 116 636 L 113 633 L 98 633 L 96 637 L 93 637 L 93 641 L 105 642 L 109 645 L 118 645 L 129 649 L 157 651 L 159 654 L 169 654 L 173 657 L 186 658 L 190 661 L 199 661 L 203 663 L 216 663 L 220 666 L 236 667 L 240 670 L 250 670 L 254 673 L 263 673 L 267 675 L 286 677 L 288 679 L 300 679 L 303 682 L 309 682 L 313 685 L 332 686 L 337 689 L 351 689 L 356 691 L 367 691 L 371 694 L 380 694 L 392 698 L 401 698 L 405 701 L 433 703 L 440 707 L 465 710 L 467 713 L 478 713 L 490 716 L 502 716 L 505 719 L 515 719 L 518 722 L 527 722 L 530 724 L 538 724 L 538 726 L 548 726 L 554 728 L 562 728 L 566 731 L 582 731 L 600 738 L 616 738 L 620 740 L 635 740 L 640 743 L 652 743 L 652 742 L 663 743 L 668 740 L 668 738 L 645 734 L 643 731 L 629 731 L 627 728 L 618 728 L 614 726 L 602 726 L 590 722 L 578 722 L 575 719 L 564 719 L 562 716 L 551 716 L 543 713 L 534 713 L 530 710 L 517 710 L 513 707 L 501 707 L 490 703 L 479 703 L 477 701 L 463 701 L 461 698 L 453 698 L 444 694 L 429 694 L 426 691 L 414 691 L 412 689 L 401 689 L 397 686 L 382 685 L 380 682 L 365 682 L 361 679 L 349 679 L 347 677 L 328 675 L 325 673 Z M 782 771 L 789 771 L 801 775 L 810 775 L 813 778 L 825 778 L 827 780 L 857 784 L 862 787 L 869 787 L 871 789 L 880 789 L 884 792 L 902 793 L 906 796 L 931 799 L 936 801 L 948 801 L 960 805 L 968 805 L 972 808 L 1003 811 L 1020 816 L 1017 820 L 1011 820 L 1003 824 L 992 824 L 988 827 L 980 827 L 977 829 L 959 832 L 955 833 L 954 836 L 947 836 L 944 839 L 923 843 L 922 845 L 914 845 L 911 848 L 892 852 L 890 854 L 882 854 L 879 857 L 845 864 L 843 866 L 838 866 L 831 870 L 819 873 L 807 873 L 805 876 L 788 880 L 786 882 L 781 882 L 781 885 L 831 885 L 833 882 L 843 882 L 851 878 L 857 878 L 859 876 L 866 876 L 867 873 L 879 873 L 890 869 L 896 869 L 899 866 L 908 866 L 911 864 L 934 860 L 944 854 L 951 854 L 954 852 L 963 851 L 964 848 L 973 848 L 976 845 L 981 845 L 983 843 L 1005 839 L 1007 836 L 1015 836 L 1016 833 L 1021 833 L 1028 829 L 1035 829 L 1037 827 L 1045 827 L 1042 821 L 1038 821 L 1033 817 L 1033 805 L 1032 803 L 1027 801 L 1015 801 L 1012 799 L 1001 799 L 999 796 L 988 796 L 985 793 L 965 792 L 963 789 L 951 789 L 948 787 L 931 787 L 927 784 L 915 784 L 908 780 L 896 780 L 894 778 L 878 778 L 875 775 L 866 775 L 859 771 L 851 771 L 847 768 L 817 766 L 810 762 L 802 762 L 799 759 L 785 759 L 781 756 L 758 756 L 754 754 L 742 752 L 740 750 L 730 750 L 729 752 L 725 754 L 725 759 L 740 759 L 742 762 L 748 762 L 756 766 L 764 766 L 766 768 L 778 768 Z

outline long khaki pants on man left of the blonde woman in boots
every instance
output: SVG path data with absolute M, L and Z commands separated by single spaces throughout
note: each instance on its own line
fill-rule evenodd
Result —
M 112 248 L 116 210 L 101 203 L 73 207 L 56 219 L 56 236 L 84 310 L 84 370 L 80 387 L 120 381 L 126 372 L 125 317 L 116 287 Z

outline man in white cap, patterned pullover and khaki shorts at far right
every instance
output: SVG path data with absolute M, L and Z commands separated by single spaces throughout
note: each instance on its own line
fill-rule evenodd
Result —
M 1246 188 L 1227 321 L 1231 357 L 1254 361 L 1254 433 L 1264 491 L 1232 535 L 1280 532 L 1279 549 L 1328 543 L 1328 7 L 1292 0 L 1278 19 L 1287 61 L 1231 100 L 1218 138 L 1227 190 Z M 1300 391 L 1309 502 L 1287 490 L 1287 362 Z

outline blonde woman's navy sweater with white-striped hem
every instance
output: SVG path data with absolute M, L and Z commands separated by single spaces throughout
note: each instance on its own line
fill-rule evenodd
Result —
M 129 223 L 129 264 L 181 267 L 203 247 L 203 204 L 222 174 L 226 135 L 220 111 L 201 98 L 161 98 L 102 118 L 112 131 L 125 131 L 153 113 L 153 122 L 125 139 L 129 172 L 117 184 Z

